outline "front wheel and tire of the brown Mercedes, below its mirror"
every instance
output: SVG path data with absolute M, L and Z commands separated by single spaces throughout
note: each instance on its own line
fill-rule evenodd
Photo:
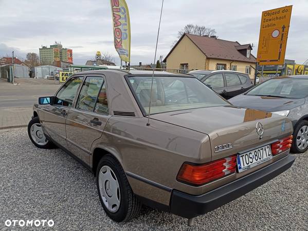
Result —
M 28 136 L 31 142 L 38 148 L 51 149 L 56 147 L 45 137 L 39 117 L 34 117 L 30 120 L 28 124 Z

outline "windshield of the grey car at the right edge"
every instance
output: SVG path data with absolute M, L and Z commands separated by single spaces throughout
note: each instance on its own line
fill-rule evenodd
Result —
M 306 79 L 271 79 L 255 88 L 247 95 L 264 95 L 281 98 L 305 98 L 308 94 L 308 80 Z

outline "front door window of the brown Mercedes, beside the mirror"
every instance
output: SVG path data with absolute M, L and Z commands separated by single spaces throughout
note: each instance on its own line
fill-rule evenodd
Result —
M 68 80 L 58 91 L 54 104 L 71 107 L 82 80 L 83 76 L 71 78 L 70 80 Z

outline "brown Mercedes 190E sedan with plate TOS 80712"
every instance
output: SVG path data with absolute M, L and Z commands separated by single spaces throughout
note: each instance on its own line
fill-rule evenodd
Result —
M 146 204 L 191 225 L 294 162 L 290 120 L 234 107 L 191 75 L 160 71 L 153 82 L 151 71 L 76 73 L 34 104 L 28 134 L 93 171 L 117 222 Z

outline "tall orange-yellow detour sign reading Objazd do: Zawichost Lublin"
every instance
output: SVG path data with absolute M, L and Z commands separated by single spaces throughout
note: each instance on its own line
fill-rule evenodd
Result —
M 291 19 L 292 6 L 262 12 L 257 62 L 282 65 Z

